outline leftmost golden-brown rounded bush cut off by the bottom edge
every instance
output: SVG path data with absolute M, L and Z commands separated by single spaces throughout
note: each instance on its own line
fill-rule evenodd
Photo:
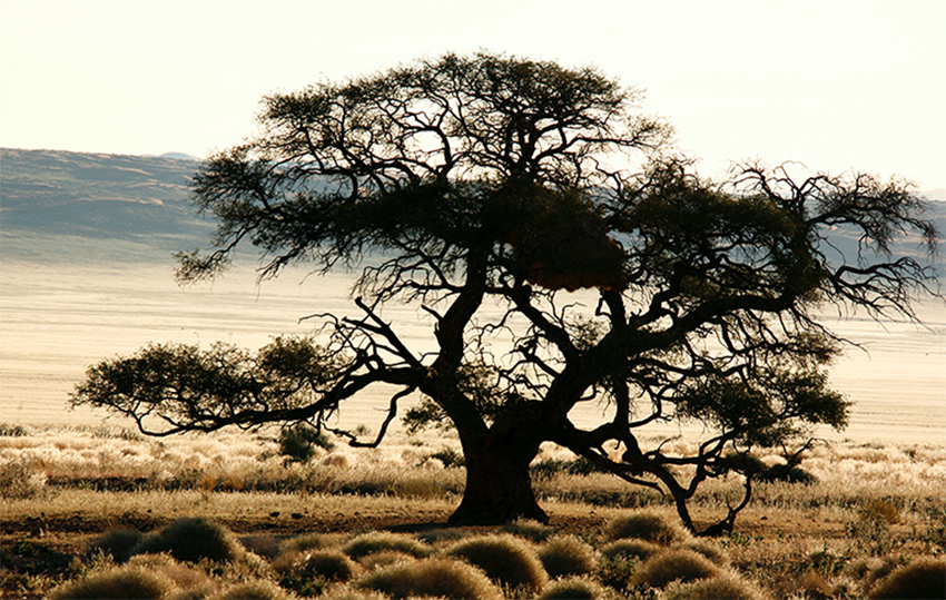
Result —
M 161 573 L 140 567 L 116 567 L 92 572 L 77 581 L 56 588 L 53 600 L 158 599 L 175 589 L 174 582 Z

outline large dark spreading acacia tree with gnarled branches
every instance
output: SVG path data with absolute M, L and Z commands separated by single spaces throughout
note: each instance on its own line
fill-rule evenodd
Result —
M 890 244 L 918 234 L 933 252 L 937 233 L 897 180 L 751 165 L 701 180 L 637 97 L 595 69 L 479 53 L 266 98 L 259 135 L 194 180 L 218 233 L 178 275 L 213 276 L 244 242 L 264 276 L 361 265 L 362 316 L 323 315 L 312 337 L 256 355 L 149 346 L 90 368 L 73 402 L 157 435 L 308 422 L 376 445 L 420 392 L 410 425 L 447 423 L 465 456 L 453 522 L 546 520 L 529 464 L 554 442 L 669 494 L 693 531 L 699 484 L 738 472 L 743 496 L 703 532 L 730 530 L 758 474 L 740 458 L 759 444 L 797 456 L 811 425 L 846 424 L 825 372 L 839 340 L 815 308 L 915 318 L 934 273 Z M 834 227 L 865 252 L 832 252 Z M 392 302 L 431 315 L 436 352 L 403 343 L 383 318 Z M 378 384 L 394 392 L 375 439 L 332 426 Z M 595 402 L 609 416 L 578 426 L 573 409 Z M 703 425 L 696 452 L 639 443 L 672 421 Z

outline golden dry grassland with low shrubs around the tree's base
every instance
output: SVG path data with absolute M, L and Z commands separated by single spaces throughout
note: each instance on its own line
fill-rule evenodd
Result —
M 118 580 L 148 583 L 152 591 L 147 597 L 161 598 L 433 592 L 483 598 L 863 598 L 881 590 L 881 583 L 890 584 L 894 574 L 907 577 L 901 572 L 908 565 L 936 573 L 946 564 L 946 446 L 818 445 L 801 463 L 814 481 L 758 484 L 733 534 L 709 541 L 684 535 L 661 548 L 660 562 L 609 554 L 612 523 L 651 514 L 672 527 L 670 501 L 588 472 L 553 446 L 543 447 L 533 465 L 535 490 L 551 515 L 549 527 L 449 529 L 444 523 L 459 502 L 464 476 L 455 464 L 454 440 L 404 436 L 375 451 L 318 449 L 309 462 L 292 463 L 275 440 L 247 433 L 155 440 L 121 430 L 9 425 L 0 433 L 3 598 L 79 596 L 78 588 L 63 586 L 92 586 L 96 577 L 107 586 Z M 688 450 L 686 442 L 678 444 L 681 452 Z M 776 454 L 759 458 L 778 460 Z M 694 500 L 697 519 L 709 522 L 725 512 L 739 489 L 735 480 L 706 484 Z M 128 557 L 115 552 L 89 552 L 116 532 L 154 538 L 191 518 L 239 538 L 239 555 L 252 559 L 208 558 L 195 564 L 139 552 L 145 558 L 124 562 Z M 382 531 L 423 543 L 428 551 L 423 557 L 391 548 L 365 555 L 349 551 L 353 538 Z M 453 565 L 460 560 L 453 547 L 462 541 L 499 543 L 509 535 L 523 542 L 513 547 L 544 561 L 548 572 L 535 576 L 541 584 L 504 584 L 487 565 Z M 570 560 L 583 567 L 571 572 Z M 326 564 L 347 574 L 326 574 Z M 180 574 L 185 572 L 190 579 Z M 457 587 L 431 587 L 428 580 Z

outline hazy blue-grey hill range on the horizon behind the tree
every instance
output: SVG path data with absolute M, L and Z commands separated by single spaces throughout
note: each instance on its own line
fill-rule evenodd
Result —
M 168 262 L 173 252 L 206 247 L 214 224 L 188 200 L 198 160 L 0 148 L 0 256 Z M 946 189 L 924 195 L 946 200 Z M 933 210 L 946 230 L 946 201 Z M 848 254 L 855 239 L 838 230 L 831 242 Z M 907 240 L 897 252 L 919 250 Z

